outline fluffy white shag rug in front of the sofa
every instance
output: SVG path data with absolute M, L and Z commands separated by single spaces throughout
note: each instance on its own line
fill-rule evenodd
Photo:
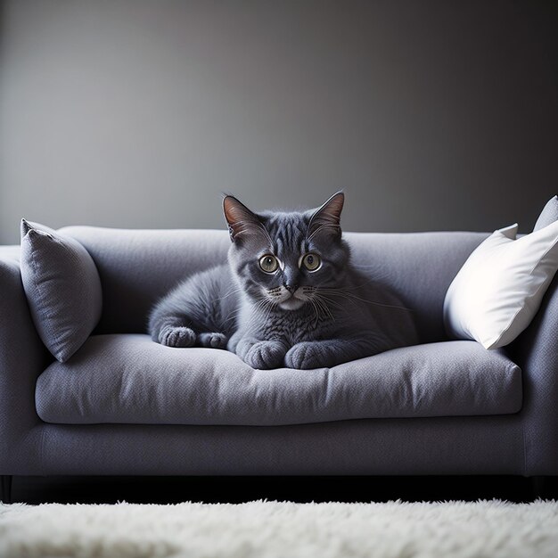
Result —
M 0 505 L 8 558 L 556 558 L 558 503 Z

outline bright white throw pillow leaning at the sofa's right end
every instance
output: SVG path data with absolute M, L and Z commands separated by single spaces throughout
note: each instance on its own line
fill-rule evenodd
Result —
M 496 349 L 529 325 L 558 268 L 558 221 L 516 234 L 517 224 L 495 231 L 455 275 L 444 300 L 448 333 Z

